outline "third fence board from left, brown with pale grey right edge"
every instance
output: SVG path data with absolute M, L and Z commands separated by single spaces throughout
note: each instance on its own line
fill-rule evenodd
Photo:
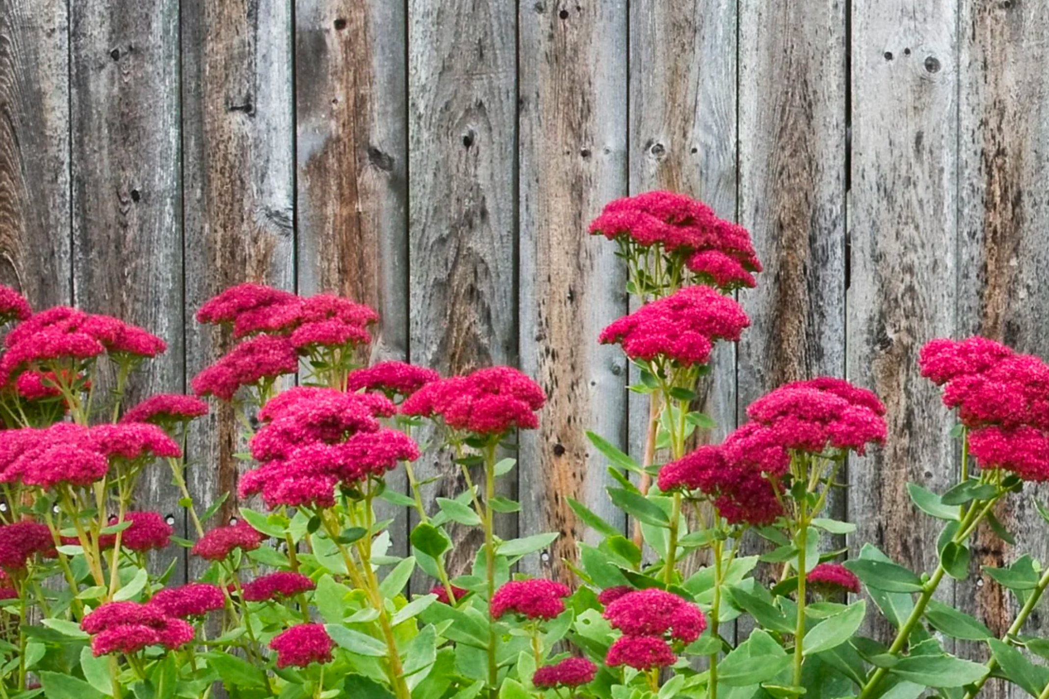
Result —
M 232 346 L 193 314 L 244 281 L 294 288 L 292 12 L 288 0 L 183 1 L 187 378 Z M 191 435 L 199 507 L 231 493 L 242 449 L 233 409 L 212 401 Z

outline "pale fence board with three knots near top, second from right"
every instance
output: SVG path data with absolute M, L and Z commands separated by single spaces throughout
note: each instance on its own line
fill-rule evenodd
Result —
M 940 390 L 917 365 L 955 333 L 956 13 L 946 0 L 853 5 L 849 375 L 884 401 L 889 439 L 849 464 L 850 541 L 919 571 L 936 565 L 941 523 L 919 516 L 906 483 L 942 493 L 958 469 Z

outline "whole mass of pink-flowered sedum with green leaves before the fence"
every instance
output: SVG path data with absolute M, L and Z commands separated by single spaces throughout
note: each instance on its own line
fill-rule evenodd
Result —
M 519 508 L 496 495 L 516 466 L 504 455 L 547 398 L 517 370 L 366 366 L 371 309 L 242 284 L 197 311 L 234 344 L 194 395 L 126 407 L 162 340 L 73 308 L 34 313 L 0 289 L 13 325 L 0 356 L 0 699 L 970 699 L 990 680 L 1049 697 L 1049 641 L 1027 625 L 1049 585 L 1037 561 L 982 571 L 1019 610 L 1001 637 L 937 597 L 972 574 L 978 527 L 1011 542 L 996 505 L 1049 478 L 1049 368 L 981 337 L 926 345 L 920 370 L 943 386 L 961 443 L 954 487 L 908 486 L 916 515 L 943 523 L 938 565 L 834 550 L 831 537 L 854 527 L 827 503 L 847 461 L 885 441 L 882 402 L 840 378 L 795 381 L 721 443 L 692 445 L 712 427 L 692 408 L 711 353 L 749 325 L 733 296 L 761 271 L 749 235 L 666 192 L 609 203 L 591 233 L 627 265 L 636 309 L 597 340 L 636 366 L 649 423 L 640 463 L 588 433 L 633 523 L 570 499 L 601 540 L 578 542 L 561 581 L 515 572 L 558 533 L 504 540 L 494 526 Z M 241 419 L 236 510 L 226 496 L 195 502 L 186 484 L 187 468 L 211 467 L 187 459 L 208 400 Z M 413 466 L 424 454 L 450 460 L 463 492 L 429 504 Z M 135 506 L 155 468 L 190 539 Z M 394 468 L 404 493 L 387 485 Z M 407 556 L 391 553 L 390 507 L 414 512 Z M 216 523 L 220 510 L 234 517 Z M 467 569 L 449 556 L 452 524 L 483 533 Z M 175 581 L 184 569 L 192 580 Z M 420 573 L 431 582 L 416 589 Z M 887 637 L 868 635 L 876 615 Z

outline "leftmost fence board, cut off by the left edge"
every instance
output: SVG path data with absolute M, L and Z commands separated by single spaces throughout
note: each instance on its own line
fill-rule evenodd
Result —
M 69 18 L 65 0 L 0 4 L 0 283 L 70 302 Z

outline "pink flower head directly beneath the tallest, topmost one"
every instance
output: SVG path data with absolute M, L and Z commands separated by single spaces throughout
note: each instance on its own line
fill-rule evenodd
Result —
M 664 356 L 688 367 L 706 364 L 714 342 L 736 342 L 749 325 L 731 297 L 707 286 L 686 286 L 615 321 L 598 340 L 619 343 L 631 359 Z

